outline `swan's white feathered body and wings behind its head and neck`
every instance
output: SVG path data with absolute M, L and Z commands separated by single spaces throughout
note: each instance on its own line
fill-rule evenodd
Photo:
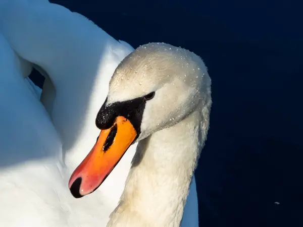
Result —
M 91 195 L 80 200 L 73 198 L 67 182 L 95 143 L 99 130 L 94 120 L 100 103 L 108 94 L 116 67 L 133 48 L 115 40 L 82 15 L 47 1 L 33 4 L 16 0 L 0 4 L 0 31 L 17 52 L 15 58 L 24 61 L 28 69 L 32 65 L 40 67 L 54 85 L 49 83 L 46 89 L 43 87 L 41 95 L 47 114 L 37 101 L 39 92 L 33 92 L 22 80 L 29 73 L 14 74 L 20 79 L 16 84 L 20 82 L 22 89 L 18 85 L 18 89 L 10 92 L 18 91 L 20 99 L 22 96 L 27 101 L 6 102 L 6 108 L 15 111 L 15 118 L 21 122 L 23 119 L 17 113 L 20 106 L 27 108 L 31 117 L 26 122 L 32 122 L 31 128 L 36 132 L 28 130 L 27 125 L 15 124 L 14 118 L 8 117 L 12 113 L 7 113 L 5 121 L 10 124 L 2 135 L 10 130 L 14 134 L 1 137 L 1 144 L 6 140 L 6 146 L 1 145 L 2 155 L 5 157 L 5 150 L 21 152 L 20 147 L 8 142 L 17 139 L 15 132 L 21 127 L 24 138 L 39 140 L 41 145 L 32 142 L 32 146 L 23 146 L 24 153 L 35 151 L 37 158 L 32 160 L 29 155 L 26 161 L 23 158 L 13 167 L 1 168 L 0 178 L 10 182 L 3 188 L 6 193 L 1 196 L 2 201 L 11 201 L 18 193 L 16 202 L 7 206 L 6 212 L 0 212 L 1 223 L 8 227 L 105 226 L 125 187 L 137 143 L 128 149 L 107 180 Z M 24 90 L 29 97 L 24 95 Z M 12 93 L 7 93 L 6 97 L 10 97 L 9 94 Z M 194 178 L 190 187 L 182 226 L 198 226 Z

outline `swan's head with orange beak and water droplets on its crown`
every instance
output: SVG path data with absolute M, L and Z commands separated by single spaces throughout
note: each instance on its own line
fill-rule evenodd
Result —
M 96 190 L 128 147 L 172 127 L 211 100 L 204 62 L 165 43 L 142 45 L 117 67 L 97 113 L 97 142 L 69 181 L 74 197 Z

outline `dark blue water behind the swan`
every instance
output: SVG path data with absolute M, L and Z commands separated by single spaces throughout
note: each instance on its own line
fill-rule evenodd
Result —
M 51 2 L 133 47 L 167 42 L 204 59 L 213 107 L 195 172 L 200 226 L 303 226 L 303 3 Z

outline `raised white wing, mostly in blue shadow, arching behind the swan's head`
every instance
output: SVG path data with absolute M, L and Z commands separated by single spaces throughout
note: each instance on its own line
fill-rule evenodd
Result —
M 56 89 L 55 98 L 46 97 L 47 93 L 42 98 L 51 106 L 47 109 L 64 150 L 89 150 L 98 134 L 94 119 L 99 103 L 106 98 L 117 65 L 133 48 L 56 4 L 8 3 L 0 18 L 0 27 L 14 50 L 41 67 Z M 48 94 L 53 96 L 53 89 Z M 95 136 L 88 137 L 91 132 Z M 75 157 L 73 162 L 76 159 L 81 160 Z

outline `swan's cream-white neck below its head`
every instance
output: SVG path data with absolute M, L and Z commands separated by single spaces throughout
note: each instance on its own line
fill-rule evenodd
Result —
M 200 132 L 200 116 L 195 111 L 173 127 L 139 142 L 120 203 L 108 227 L 180 225 L 204 143 L 199 140 Z

